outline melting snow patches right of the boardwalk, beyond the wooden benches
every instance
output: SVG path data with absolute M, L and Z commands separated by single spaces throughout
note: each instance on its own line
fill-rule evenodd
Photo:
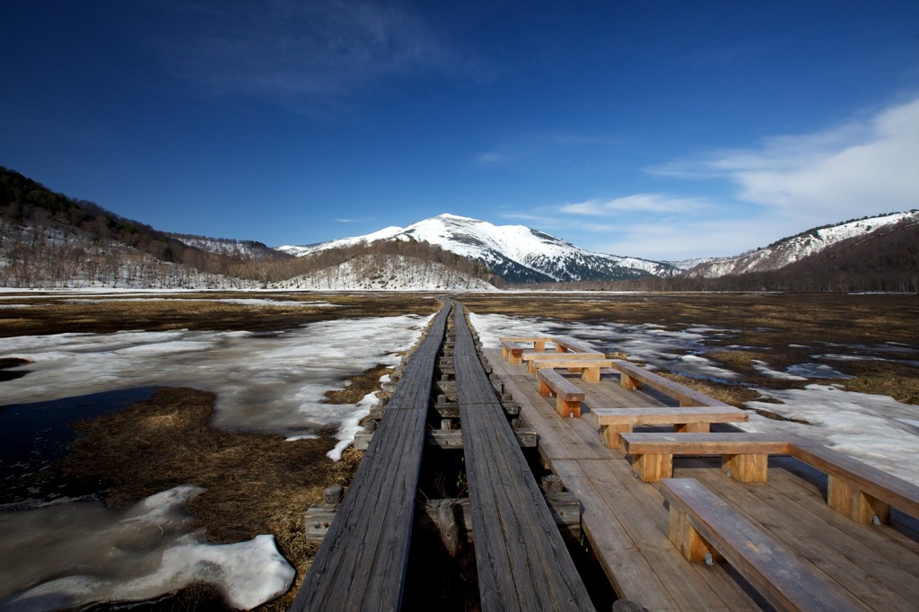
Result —
M 519 334 L 565 334 L 585 340 L 607 353 L 621 351 L 630 358 L 644 361 L 651 368 L 664 369 L 686 376 L 732 381 L 741 377 L 705 357 L 706 341 L 730 338 L 732 331 L 712 327 L 690 326 L 681 331 L 667 331 L 652 324 L 626 325 L 604 323 L 561 323 L 542 319 L 508 317 L 501 314 L 477 315 L 470 320 L 484 346 L 498 347 L 500 336 Z M 728 347 L 730 350 L 731 346 Z M 733 346 L 738 350 L 742 346 Z M 858 346 L 849 346 L 858 350 Z M 911 346 L 864 346 L 877 352 L 886 349 L 903 363 L 914 364 L 919 350 Z M 724 350 L 719 347 L 719 350 Z M 834 354 L 815 353 L 811 358 L 842 360 Z M 877 358 L 845 356 L 849 359 Z M 845 375 L 825 364 L 800 364 L 790 371 L 777 371 L 760 360 L 757 368 L 768 369 L 777 379 L 844 378 Z M 792 378 L 794 377 L 794 378 Z M 897 402 L 886 395 L 845 391 L 841 386 L 810 384 L 804 389 L 758 389 L 761 399 L 747 402 L 751 410 L 765 410 L 807 425 L 768 419 L 750 414 L 750 422 L 738 426 L 748 431 L 788 432 L 809 437 L 828 447 L 865 461 L 868 464 L 919 484 L 919 463 L 904 457 L 919 455 L 919 406 Z

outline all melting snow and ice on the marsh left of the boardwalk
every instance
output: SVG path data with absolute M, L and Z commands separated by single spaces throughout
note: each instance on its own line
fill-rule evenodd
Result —
M 248 303 L 248 300 L 246 300 Z M 338 459 L 376 401 L 323 403 L 325 391 L 377 364 L 395 366 L 428 318 L 415 315 L 309 323 L 277 334 L 121 332 L 0 339 L 0 357 L 32 363 L 3 384 L 4 404 L 97 391 L 190 386 L 214 391 L 215 425 L 311 436 L 337 429 Z M 182 504 L 200 492 L 178 487 L 122 511 L 99 503 L 0 510 L 0 609 L 73 608 L 142 600 L 186 584 L 214 584 L 241 608 L 288 590 L 294 571 L 269 535 L 215 546 L 190 531 Z M 28 550 L 28 554 L 24 553 Z M 37 585 L 35 585 L 37 584 Z M 27 585 L 28 591 L 21 592 Z

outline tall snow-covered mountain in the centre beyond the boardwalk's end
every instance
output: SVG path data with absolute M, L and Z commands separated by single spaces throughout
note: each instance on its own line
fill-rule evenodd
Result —
M 675 266 L 661 262 L 592 253 L 523 225 L 494 225 L 468 217 L 442 214 L 408 227 L 388 227 L 364 236 L 307 246 L 279 246 L 290 255 L 309 255 L 323 249 L 377 240 L 419 241 L 437 244 L 492 269 L 507 282 L 614 280 L 649 275 L 672 276 Z

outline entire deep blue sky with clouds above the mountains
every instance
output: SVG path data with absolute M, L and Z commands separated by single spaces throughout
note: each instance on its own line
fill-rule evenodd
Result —
M 919 208 L 919 2 L 6 0 L 0 165 L 158 229 L 736 255 Z

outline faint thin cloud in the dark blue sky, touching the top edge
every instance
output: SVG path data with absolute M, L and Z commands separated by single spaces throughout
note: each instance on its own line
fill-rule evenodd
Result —
M 205 0 L 180 17 L 184 37 L 161 49 L 181 76 L 218 93 L 340 96 L 467 62 L 423 17 L 389 3 Z

